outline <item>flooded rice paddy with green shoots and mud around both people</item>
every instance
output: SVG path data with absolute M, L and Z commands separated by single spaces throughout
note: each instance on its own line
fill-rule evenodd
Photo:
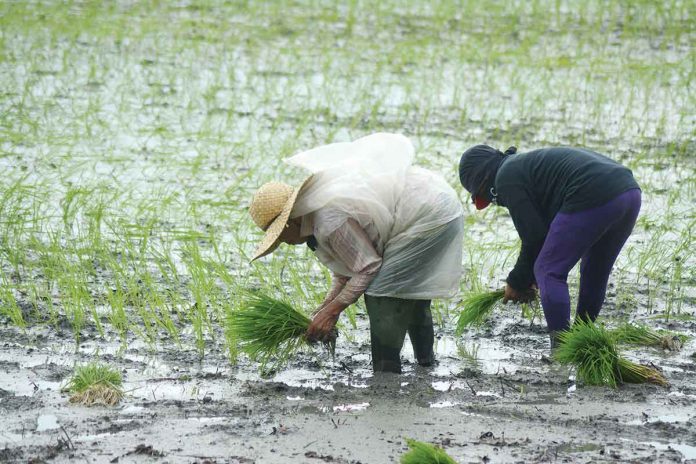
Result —
M 0 2 L 0 461 L 387 463 L 404 437 L 457 462 L 696 461 L 696 5 L 690 1 Z M 335 357 L 268 376 L 225 317 L 261 288 L 311 312 L 305 248 L 249 264 L 246 208 L 281 160 L 401 132 L 461 193 L 462 292 L 519 246 L 476 212 L 459 154 L 582 145 L 633 169 L 644 206 L 610 326 L 692 337 L 629 350 L 671 386 L 586 387 L 548 363 L 543 318 L 498 310 L 439 364 L 374 376 L 361 304 Z M 577 273 L 570 278 L 577 288 Z M 574 292 L 573 292 L 574 293 Z M 573 295 L 574 296 L 574 295 Z M 408 345 L 408 344 L 407 344 Z M 115 408 L 68 403 L 77 364 L 119 369 Z

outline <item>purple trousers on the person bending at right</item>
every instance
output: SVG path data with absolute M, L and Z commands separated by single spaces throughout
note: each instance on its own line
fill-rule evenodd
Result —
M 595 320 L 604 303 L 609 274 L 631 235 L 640 203 L 640 189 L 632 189 L 596 208 L 556 214 L 534 263 L 549 330 L 570 326 L 568 273 L 580 260 L 576 317 Z

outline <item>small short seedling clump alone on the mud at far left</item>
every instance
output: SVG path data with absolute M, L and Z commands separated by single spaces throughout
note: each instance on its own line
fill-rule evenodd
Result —
M 109 366 L 90 363 L 75 368 L 63 391 L 72 393 L 71 403 L 113 406 L 123 398 L 121 373 Z

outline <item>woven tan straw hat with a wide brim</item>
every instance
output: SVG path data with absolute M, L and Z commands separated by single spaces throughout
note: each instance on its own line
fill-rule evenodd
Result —
M 269 182 L 263 184 L 254 194 L 249 206 L 249 214 L 254 223 L 266 232 L 261 243 L 254 251 L 252 261 L 273 252 L 280 241 L 278 238 L 288 223 L 292 207 L 297 201 L 302 187 L 307 184 L 311 176 L 294 188 L 282 182 Z

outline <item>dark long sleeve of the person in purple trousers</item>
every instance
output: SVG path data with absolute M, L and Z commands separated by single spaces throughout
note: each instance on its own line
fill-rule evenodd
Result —
M 524 291 L 535 282 L 534 261 L 544 245 L 548 227 L 524 186 L 506 186 L 504 198 L 522 240 L 520 254 L 515 267 L 508 274 L 507 283 L 517 291 Z

